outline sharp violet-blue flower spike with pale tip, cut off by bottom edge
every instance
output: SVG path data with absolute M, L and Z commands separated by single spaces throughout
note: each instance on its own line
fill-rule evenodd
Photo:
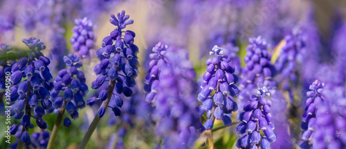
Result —
M 271 114 L 272 103 L 270 99 L 265 98 L 269 96 L 270 93 L 263 87 L 257 90 L 257 95 L 249 97 L 244 112 L 240 114 L 242 123 L 237 126 L 237 132 L 241 135 L 236 144 L 237 148 L 271 148 L 270 143 L 276 141 Z

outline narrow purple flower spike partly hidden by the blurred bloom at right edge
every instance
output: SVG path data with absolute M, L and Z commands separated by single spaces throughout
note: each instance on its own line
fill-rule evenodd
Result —
M 307 92 L 307 97 L 309 97 L 305 101 L 305 112 L 302 115 L 302 124 L 300 128 L 304 131 L 302 132 L 302 140 L 304 142 L 300 145 L 300 148 L 307 148 L 306 146 L 311 144 L 310 137 L 315 130 L 316 126 L 316 113 L 318 112 L 318 107 L 321 103 L 325 102 L 324 97 L 322 97 L 323 88 L 325 87 L 325 83 L 321 81 L 314 81 L 309 86 L 309 91 Z

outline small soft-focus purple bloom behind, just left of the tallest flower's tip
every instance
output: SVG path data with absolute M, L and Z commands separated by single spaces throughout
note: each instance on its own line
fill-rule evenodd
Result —
M 93 51 L 95 36 L 93 34 L 93 23 L 84 17 L 84 19 L 75 19 L 76 26 L 72 29 L 72 38 L 70 43 L 73 50 L 78 52 L 80 57 L 88 57 L 89 52 Z

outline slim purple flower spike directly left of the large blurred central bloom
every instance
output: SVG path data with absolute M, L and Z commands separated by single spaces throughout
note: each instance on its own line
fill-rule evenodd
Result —
M 165 59 L 167 49 L 167 45 L 159 42 L 154 46 L 154 48 L 152 48 L 153 53 L 149 55 L 152 60 L 149 61 L 148 64 L 149 72 L 145 77 L 144 86 L 144 92 L 147 92 L 147 95 L 145 96 L 145 101 L 147 102 L 151 102 L 156 95 L 161 68 L 167 64 L 167 59 Z

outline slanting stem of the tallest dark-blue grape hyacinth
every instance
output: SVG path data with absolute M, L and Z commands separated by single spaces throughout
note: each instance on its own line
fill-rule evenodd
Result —
M 109 81 L 109 88 L 107 90 L 107 99 L 102 102 L 101 107 L 104 107 L 105 110 L 107 110 L 108 103 L 111 100 L 111 95 L 114 89 L 114 86 L 116 84 L 116 81 Z M 93 121 L 91 122 L 88 130 L 86 131 L 86 134 L 84 135 L 84 138 L 82 139 L 82 142 L 80 143 L 80 146 L 78 146 L 78 149 L 84 149 L 86 147 L 86 144 L 89 142 L 91 135 L 93 135 L 93 132 L 95 131 L 96 127 L 98 126 L 98 123 L 100 122 L 101 117 L 98 117 L 98 114 L 95 115 L 95 118 L 93 118 Z

